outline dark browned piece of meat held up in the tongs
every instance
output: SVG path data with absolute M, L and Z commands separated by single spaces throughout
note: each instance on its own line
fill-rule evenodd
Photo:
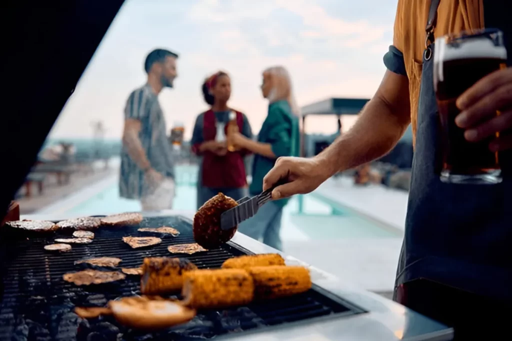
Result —
M 194 240 L 204 248 L 212 249 L 233 238 L 238 226 L 222 230 L 221 215 L 237 205 L 237 201 L 222 193 L 206 201 L 194 216 Z

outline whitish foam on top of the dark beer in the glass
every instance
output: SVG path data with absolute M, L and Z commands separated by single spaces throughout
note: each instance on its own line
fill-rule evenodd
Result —
M 444 50 L 443 56 L 439 56 L 443 61 L 473 58 L 507 59 L 505 47 L 496 46 L 492 40 L 486 37 L 468 38 L 458 46 L 447 44 L 446 39 L 442 37 L 436 39 L 436 48 L 437 46 L 442 46 L 441 49 Z

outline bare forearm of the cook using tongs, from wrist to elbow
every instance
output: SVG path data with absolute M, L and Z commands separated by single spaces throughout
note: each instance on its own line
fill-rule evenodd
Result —
M 404 108 L 400 108 L 404 110 Z M 407 108 L 408 110 L 408 108 Z M 354 126 L 316 156 L 328 176 L 373 161 L 388 153 L 401 138 L 410 118 L 397 112 L 379 97 L 361 110 Z

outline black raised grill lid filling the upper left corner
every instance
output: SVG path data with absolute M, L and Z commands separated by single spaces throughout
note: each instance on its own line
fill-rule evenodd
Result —
M 8 84 L 0 115 L 0 221 L 124 0 L 13 2 L 2 11 Z M 14 23 L 14 24 L 13 24 Z M 23 66 L 16 66 L 23 65 Z

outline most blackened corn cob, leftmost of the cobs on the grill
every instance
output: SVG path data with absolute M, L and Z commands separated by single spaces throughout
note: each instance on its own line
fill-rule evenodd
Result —
M 197 266 L 188 259 L 152 257 L 144 258 L 140 291 L 155 294 L 181 290 L 183 274 L 196 270 Z

